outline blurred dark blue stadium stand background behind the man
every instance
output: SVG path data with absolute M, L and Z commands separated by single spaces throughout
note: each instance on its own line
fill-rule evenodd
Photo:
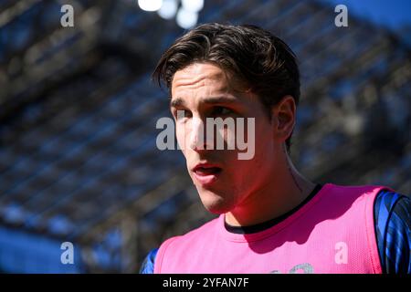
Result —
M 62 26 L 62 5 L 74 26 Z M 348 8 L 337 27 L 335 5 Z M 291 156 L 316 183 L 411 193 L 408 1 L 0 0 L 0 272 L 136 273 L 206 214 L 151 81 L 195 24 L 254 24 L 300 58 Z M 74 245 L 64 265 L 63 242 Z

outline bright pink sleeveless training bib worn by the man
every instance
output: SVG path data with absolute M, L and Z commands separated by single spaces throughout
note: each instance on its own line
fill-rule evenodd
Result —
M 229 233 L 224 214 L 166 240 L 154 273 L 382 273 L 374 199 L 385 186 L 326 183 L 311 201 L 269 229 Z

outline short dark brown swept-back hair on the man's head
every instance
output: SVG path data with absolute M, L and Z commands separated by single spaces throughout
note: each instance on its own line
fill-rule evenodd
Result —
M 258 26 L 196 26 L 163 53 L 153 78 L 171 89 L 175 72 L 195 62 L 214 63 L 245 84 L 258 96 L 269 118 L 272 106 L 284 96 L 290 95 L 296 105 L 299 103 L 297 57 L 279 37 Z M 286 140 L 289 153 L 291 135 Z

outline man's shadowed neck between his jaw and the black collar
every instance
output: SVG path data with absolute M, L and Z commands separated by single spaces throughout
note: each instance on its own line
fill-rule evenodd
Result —
M 298 172 L 287 153 L 281 155 L 275 172 L 260 186 L 226 214 L 232 226 L 249 226 L 279 217 L 299 205 L 315 187 Z

